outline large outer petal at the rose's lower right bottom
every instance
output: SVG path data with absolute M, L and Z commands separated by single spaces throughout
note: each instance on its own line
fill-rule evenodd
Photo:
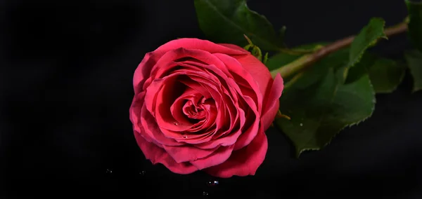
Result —
M 220 165 L 205 169 L 205 172 L 215 177 L 222 178 L 229 178 L 234 175 L 254 175 L 258 167 L 264 162 L 267 149 L 267 136 L 261 129 L 248 146 L 233 151 L 228 160 Z

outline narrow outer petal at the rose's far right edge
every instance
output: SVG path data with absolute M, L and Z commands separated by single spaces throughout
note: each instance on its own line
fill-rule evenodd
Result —
M 274 78 L 273 85 L 271 86 L 271 90 L 267 92 L 267 95 L 264 97 L 264 109 L 262 111 L 261 121 L 262 121 L 262 128 L 267 130 L 271 123 L 274 121 L 274 117 L 279 110 L 281 92 L 283 92 L 283 78 L 281 78 L 280 74 L 277 74 Z

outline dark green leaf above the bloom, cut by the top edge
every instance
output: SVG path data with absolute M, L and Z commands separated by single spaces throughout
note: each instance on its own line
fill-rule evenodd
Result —
M 211 41 L 245 46 L 245 34 L 262 50 L 283 46 L 267 18 L 251 11 L 245 0 L 195 0 L 195 8 L 200 29 Z

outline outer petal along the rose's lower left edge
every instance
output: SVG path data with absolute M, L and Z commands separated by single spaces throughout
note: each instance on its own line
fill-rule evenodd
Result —
M 151 160 L 153 164 L 162 163 L 169 170 L 178 174 L 190 174 L 198 170 L 191 163 L 176 163 L 176 161 L 174 161 L 174 159 L 169 155 L 169 153 L 165 152 L 164 149 L 161 149 L 151 142 L 147 142 L 146 139 L 143 139 L 143 137 L 137 132 L 134 132 L 134 135 L 136 142 L 145 155 L 145 158 Z

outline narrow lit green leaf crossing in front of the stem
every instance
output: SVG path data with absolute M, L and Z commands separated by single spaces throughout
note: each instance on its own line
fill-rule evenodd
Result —
M 378 39 L 387 39 L 384 33 L 385 21 L 381 18 L 372 18 L 361 32 L 354 38 L 350 45 L 349 63 L 347 67 L 357 64 L 366 49 L 376 44 Z

